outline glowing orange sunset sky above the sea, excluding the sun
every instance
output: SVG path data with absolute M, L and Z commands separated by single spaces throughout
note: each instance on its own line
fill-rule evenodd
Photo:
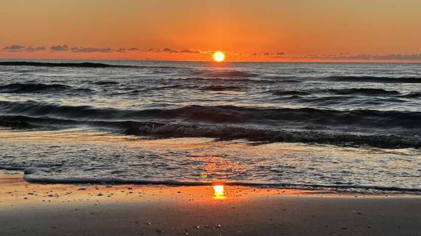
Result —
M 0 58 L 421 61 L 420 0 L 13 0 Z

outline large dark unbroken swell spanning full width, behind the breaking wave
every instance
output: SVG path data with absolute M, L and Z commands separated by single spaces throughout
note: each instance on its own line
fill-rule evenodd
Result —
M 258 124 L 268 126 L 326 125 L 379 129 L 421 128 L 421 112 L 379 110 L 328 110 L 315 108 L 264 108 L 229 105 L 189 105 L 173 109 L 120 110 L 91 106 L 67 106 L 45 102 L 0 101 L 3 115 L 78 120 L 155 120 L 207 124 Z

